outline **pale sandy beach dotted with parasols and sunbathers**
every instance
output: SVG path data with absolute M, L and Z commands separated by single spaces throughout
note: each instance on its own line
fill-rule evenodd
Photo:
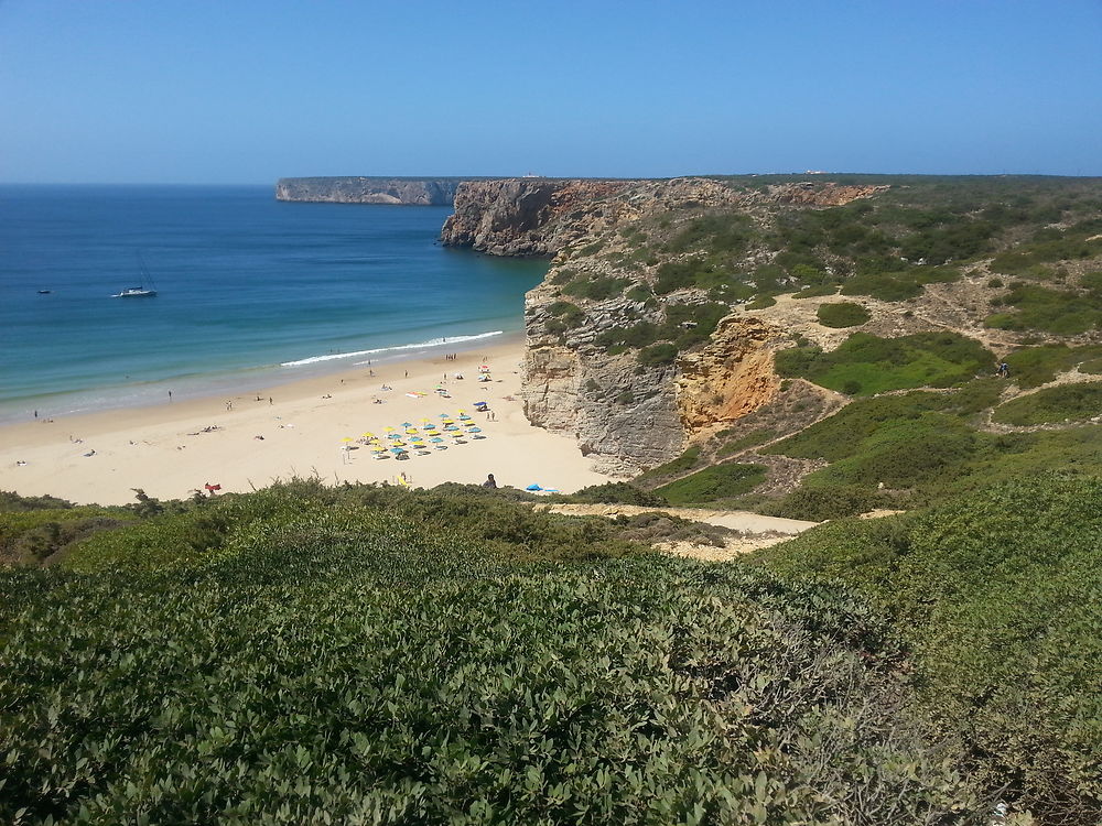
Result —
M 134 501 L 133 488 L 180 499 L 206 483 L 220 485 L 222 492 L 248 491 L 292 476 L 316 476 L 328 485 L 395 483 L 404 472 L 413 487 L 429 488 L 445 481 L 480 483 L 494 474 L 499 486 L 538 483 L 564 492 L 608 481 L 590 469 L 573 439 L 525 419 L 518 395 L 522 357 L 519 339 L 479 344 L 455 360 L 445 359 L 441 348 L 407 361 L 242 388 L 233 396 L 4 425 L 0 490 L 125 504 Z M 477 381 L 480 365 L 490 368 L 490 381 Z M 450 399 L 435 392 L 437 384 Z M 488 403 L 493 420 L 474 411 L 476 401 Z M 375 459 L 366 445 L 342 442 L 366 432 L 382 436 L 385 427 L 401 430 L 403 422 L 439 424 L 441 414 L 455 417 L 460 410 L 476 421 L 485 439 L 403 461 Z M 358 449 L 344 449 L 348 445 Z

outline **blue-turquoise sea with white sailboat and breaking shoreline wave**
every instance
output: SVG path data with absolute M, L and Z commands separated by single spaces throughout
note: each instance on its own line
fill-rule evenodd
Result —
M 547 264 L 437 246 L 450 213 L 288 204 L 261 186 L 0 186 L 0 420 L 262 387 L 521 329 Z M 110 297 L 142 283 L 139 256 L 158 296 Z

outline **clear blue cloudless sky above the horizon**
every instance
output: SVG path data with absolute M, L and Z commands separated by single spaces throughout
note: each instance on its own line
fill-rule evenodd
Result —
M 1102 0 L 0 0 L 0 182 L 1102 175 Z

